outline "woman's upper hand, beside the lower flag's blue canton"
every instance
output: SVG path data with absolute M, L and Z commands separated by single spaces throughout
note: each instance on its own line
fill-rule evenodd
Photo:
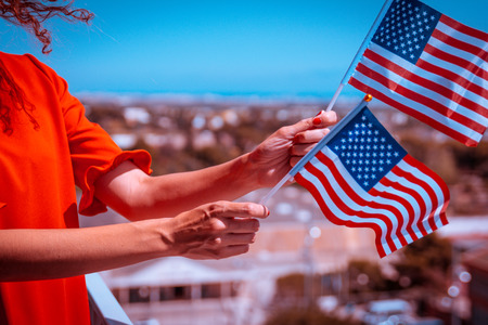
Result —
M 335 112 L 320 112 L 316 117 L 280 128 L 249 154 L 261 186 L 273 186 L 337 122 Z

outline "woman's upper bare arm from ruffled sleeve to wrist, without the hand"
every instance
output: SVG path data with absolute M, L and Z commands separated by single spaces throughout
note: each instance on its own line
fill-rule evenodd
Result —
M 98 181 L 97 197 L 132 221 L 172 217 L 258 188 L 247 159 L 244 155 L 218 166 L 159 177 L 147 177 L 126 161 Z

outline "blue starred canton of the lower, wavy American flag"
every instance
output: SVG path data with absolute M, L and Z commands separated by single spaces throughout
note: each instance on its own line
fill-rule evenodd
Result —
M 367 106 L 328 146 L 367 192 L 407 155 Z

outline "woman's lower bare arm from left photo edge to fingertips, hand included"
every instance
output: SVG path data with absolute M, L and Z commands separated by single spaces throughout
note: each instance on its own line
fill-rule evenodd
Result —
M 220 259 L 244 253 L 259 229 L 256 218 L 268 213 L 257 204 L 217 202 L 169 219 L 0 230 L 0 282 L 68 277 L 166 256 Z

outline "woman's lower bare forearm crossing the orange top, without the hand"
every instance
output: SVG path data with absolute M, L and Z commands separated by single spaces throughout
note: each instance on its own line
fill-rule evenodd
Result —
M 68 277 L 171 255 L 157 220 L 88 229 L 1 230 L 0 281 Z

